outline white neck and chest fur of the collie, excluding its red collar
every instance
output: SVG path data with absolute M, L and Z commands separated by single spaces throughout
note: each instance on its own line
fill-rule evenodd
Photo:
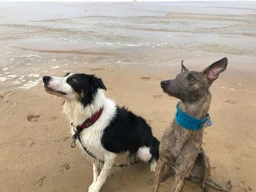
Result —
M 99 119 L 80 133 L 80 140 L 87 150 L 98 159 L 104 161 L 104 154 L 108 152 L 102 147 L 102 134 L 116 115 L 116 104 L 112 100 L 107 99 L 103 91 L 99 89 L 94 102 L 86 107 L 83 107 L 83 104 L 80 104 L 79 101 L 65 101 L 64 113 L 76 127 L 81 125 L 86 119 L 91 118 L 101 107 L 103 107 L 103 111 Z M 73 129 L 72 134 L 74 134 Z

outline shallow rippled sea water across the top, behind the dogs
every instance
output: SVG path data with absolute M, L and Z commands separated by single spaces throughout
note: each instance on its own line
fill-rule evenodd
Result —
M 0 83 L 12 85 L 86 64 L 252 58 L 256 2 L 1 3 L 0 46 Z

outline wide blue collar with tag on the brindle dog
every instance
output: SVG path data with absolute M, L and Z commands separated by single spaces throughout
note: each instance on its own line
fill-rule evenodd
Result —
M 178 107 L 178 104 L 176 104 L 176 109 L 176 122 L 183 128 L 195 131 L 199 130 L 200 128 L 203 128 L 204 126 L 211 126 L 211 118 L 210 115 L 208 114 L 206 115 L 205 118 L 197 119 L 181 111 L 181 109 Z

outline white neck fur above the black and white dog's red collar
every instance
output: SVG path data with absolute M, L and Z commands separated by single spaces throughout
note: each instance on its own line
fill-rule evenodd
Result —
M 64 103 L 64 113 L 67 115 L 69 122 L 74 126 L 80 126 L 86 119 L 91 118 L 101 107 L 105 108 L 105 104 L 109 99 L 106 98 L 102 89 L 98 89 L 91 104 L 83 106 L 80 101 L 66 100 Z M 104 110 L 103 110 L 104 111 Z

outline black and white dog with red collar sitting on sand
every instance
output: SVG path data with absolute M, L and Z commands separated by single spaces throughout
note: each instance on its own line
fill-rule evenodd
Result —
M 151 127 L 140 116 L 106 98 L 100 78 L 71 73 L 64 77 L 45 76 L 42 80 L 46 92 L 64 98 L 64 113 L 72 123 L 72 134 L 79 133 L 83 148 L 96 159 L 89 192 L 100 191 L 120 156 L 126 162 L 131 158 L 133 162 L 146 161 L 155 171 L 159 141 L 153 137 Z M 100 173 L 98 161 L 104 162 Z

